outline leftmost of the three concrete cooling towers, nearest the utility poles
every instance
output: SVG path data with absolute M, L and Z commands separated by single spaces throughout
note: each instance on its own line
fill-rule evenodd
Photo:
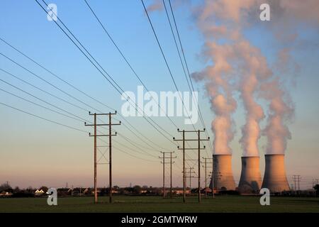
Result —
M 213 175 L 211 188 L 218 190 L 235 190 L 232 170 L 232 155 L 213 155 Z

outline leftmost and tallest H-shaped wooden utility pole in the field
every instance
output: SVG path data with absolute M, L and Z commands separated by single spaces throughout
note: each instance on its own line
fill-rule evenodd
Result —
M 115 113 L 108 113 L 108 114 L 91 114 L 91 112 L 89 112 L 89 115 L 93 115 L 94 116 L 94 124 L 86 124 L 86 122 L 84 122 L 85 126 L 94 126 L 94 135 L 91 135 L 91 133 L 89 133 L 89 136 L 94 136 L 94 203 L 97 203 L 98 201 L 98 196 L 97 196 L 97 182 L 96 182 L 96 175 L 97 175 L 97 164 L 108 164 L 109 165 L 109 201 L 110 204 L 112 203 L 112 136 L 115 136 L 115 134 L 112 134 L 112 126 L 118 126 L 121 125 L 121 121 L 120 123 L 112 123 L 112 115 L 115 115 Z M 97 116 L 108 116 L 108 123 L 97 123 Z M 97 134 L 97 126 L 108 126 L 108 135 L 106 134 Z M 108 163 L 97 163 L 96 161 L 96 150 L 97 150 L 97 143 L 96 143 L 96 138 L 100 137 L 100 136 L 108 136 L 108 152 L 109 152 L 109 160 Z

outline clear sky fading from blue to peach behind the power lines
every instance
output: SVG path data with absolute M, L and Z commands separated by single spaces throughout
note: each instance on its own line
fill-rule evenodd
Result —
M 106 33 L 103 32 L 84 1 L 55 0 L 47 3 L 57 4 L 57 15 L 124 91 L 137 91 L 137 86 L 140 85 L 138 79 L 125 64 L 125 61 L 114 48 Z M 175 9 L 181 40 L 191 72 L 200 71 L 206 65 L 200 57 L 203 48 L 203 35 L 198 30 L 193 16 L 194 6 L 199 3 L 193 1 Z M 89 4 L 112 35 L 118 47 L 121 48 L 125 57 L 128 58 L 135 72 L 145 82 L 147 88 L 155 92 L 174 92 L 174 84 L 152 34 L 141 2 L 138 0 L 90 0 Z M 150 5 L 151 1 L 145 1 L 145 4 Z M 0 15 L 0 37 L 2 39 L 83 92 L 94 96 L 94 98 L 99 99 L 113 109 L 121 110 L 123 101 L 120 94 L 77 50 L 67 36 L 60 31 L 60 28 L 53 21 L 47 21 L 45 12 L 40 9 L 36 1 L 1 1 Z M 179 90 L 188 91 L 164 11 L 152 12 L 150 17 Z M 276 21 L 270 21 L 269 23 L 276 23 Z M 291 182 L 292 175 L 301 175 L 301 186 L 306 188 L 310 187 L 313 178 L 319 178 L 319 30 L 318 26 L 307 26 L 305 24 L 296 24 L 296 28 L 293 29 L 298 33 L 298 42 L 292 50 L 293 61 L 298 62 L 298 72 L 296 72 L 296 75 L 286 75 L 284 73 L 282 75 L 286 89 L 291 94 L 291 99 L 296 108 L 293 121 L 288 124 L 292 139 L 289 140 L 286 150 L 286 171 L 289 182 Z M 272 33 L 267 31 L 267 26 L 264 26 L 261 21 L 260 24 L 255 23 L 254 26 L 245 29 L 245 36 L 247 40 L 250 40 L 262 51 L 262 54 L 267 57 L 271 64 L 275 63 L 274 54 L 282 46 L 279 46 Z M 111 111 L 106 106 L 92 101 L 77 90 L 52 77 L 51 74 L 30 62 L 1 40 L 0 52 L 86 104 L 105 112 Z M 14 65 L 2 55 L 0 55 L 0 68 L 72 104 L 76 104 L 82 109 L 40 92 L 1 71 L 0 79 L 80 116 L 87 122 L 92 121 L 88 111 L 94 112 L 94 110 L 89 106 L 85 106 L 83 103 L 45 84 L 45 82 Z M 199 92 L 199 105 L 208 133 L 213 138 L 210 125 L 214 115 L 210 109 L 209 99 L 203 89 L 203 84 L 195 83 L 194 85 Z M 55 109 L 1 81 L 0 88 Z M 0 102 L 52 121 L 79 128 L 82 131 L 91 131 L 90 128 L 84 126 L 83 122 L 34 106 L 1 90 Z M 74 187 L 93 185 L 93 138 L 89 137 L 88 133 L 74 131 L 43 121 L 3 105 L 0 105 L 0 117 L 2 120 L 0 129 L 0 183 L 9 181 L 11 185 L 18 185 L 19 187 L 39 187 L 41 185 L 64 187 L 66 182 L 69 186 L 74 185 Z M 116 119 L 121 120 L 121 117 L 116 116 Z M 177 128 L 167 118 L 155 117 L 153 119 L 173 136 L 181 136 L 177 133 Z M 241 137 L 240 128 L 245 123 L 241 105 L 238 106 L 233 119 L 236 134 L 231 143 L 231 148 L 233 149 L 233 172 L 235 180 L 238 181 L 240 177 L 240 156 L 242 155 L 242 148 L 238 140 Z M 174 166 L 174 185 L 180 186 L 182 179 L 181 153 L 177 150 L 177 147 L 157 133 L 144 118 L 130 117 L 127 120 L 153 143 L 167 151 L 175 150 L 178 158 L 176 160 L 177 165 Z M 180 128 L 192 129 L 191 126 L 184 126 L 184 118 L 174 117 L 173 120 Z M 107 119 L 104 121 L 107 121 Z M 125 124 L 125 121 L 123 123 Z M 265 126 L 265 120 L 261 123 L 261 126 Z M 198 122 L 196 128 L 199 127 L 201 127 L 201 123 Z M 156 149 L 143 148 L 148 147 L 148 145 L 124 126 L 114 126 L 114 129 L 132 140 L 138 148 L 119 135 L 113 138 L 113 145 L 115 146 L 113 149 L 113 184 L 126 186 L 131 182 L 140 185 L 161 185 L 162 165 L 160 165 L 158 159 L 158 150 L 161 148 L 158 146 Z M 106 139 L 103 138 L 103 140 Z M 106 143 L 99 142 L 100 145 L 106 145 Z M 265 138 L 262 137 L 259 142 L 262 157 L 261 170 L 263 172 Z M 211 147 L 207 144 L 206 147 L 203 156 L 211 157 Z M 105 150 L 104 148 L 100 149 L 102 153 Z M 150 155 L 142 154 L 145 150 Z M 135 157 L 123 153 L 123 151 Z M 101 153 L 99 153 L 99 157 L 101 157 Z M 189 157 L 190 159 L 195 158 L 196 153 L 190 152 Z M 103 162 L 103 159 L 101 162 Z M 195 164 L 194 162 L 188 163 L 190 166 Z M 99 186 L 107 186 L 108 166 L 99 165 L 98 171 Z

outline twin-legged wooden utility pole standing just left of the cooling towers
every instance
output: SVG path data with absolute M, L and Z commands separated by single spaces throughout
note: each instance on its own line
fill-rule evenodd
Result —
M 174 141 L 182 141 L 183 142 L 183 148 L 179 148 L 177 147 L 179 150 L 183 150 L 183 201 L 185 202 L 185 188 L 186 188 L 186 183 L 185 183 L 185 150 L 198 150 L 198 159 L 196 161 L 198 161 L 198 202 L 201 202 L 201 150 L 204 150 L 206 147 L 203 146 L 203 148 L 201 148 L 201 141 L 207 141 L 209 140 L 209 137 L 206 139 L 201 139 L 201 132 L 205 132 L 205 128 L 203 129 L 203 131 L 198 130 L 198 131 L 179 131 L 179 129 L 177 129 L 178 132 L 182 132 L 183 133 L 183 138 L 181 140 L 177 140 L 175 138 Z M 198 138 L 196 139 L 186 139 L 185 138 L 185 133 L 197 133 L 198 134 Z M 185 141 L 198 141 L 198 147 L 197 148 L 185 148 Z

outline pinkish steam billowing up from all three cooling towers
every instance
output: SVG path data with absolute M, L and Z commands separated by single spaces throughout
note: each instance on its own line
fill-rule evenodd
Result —
M 230 142 L 235 128 L 232 115 L 237 108 L 235 92 L 239 92 L 246 111 L 240 138 L 243 156 L 259 156 L 261 135 L 267 137 L 267 154 L 284 154 L 287 140 L 291 138 L 286 124 L 294 108 L 289 93 L 281 84 L 283 79 L 274 74 L 262 52 L 243 35 L 243 28 L 260 24 L 258 9 L 262 3 L 270 5 L 272 21 L 276 21 L 264 28 L 284 46 L 278 51 L 273 69 L 281 74 L 289 70 L 296 74 L 298 64 L 293 64 L 291 57 L 293 43 L 298 38 L 295 28 L 301 23 L 318 27 L 319 1 L 204 0 L 201 6 L 193 8 L 196 25 L 205 40 L 201 56 L 209 64 L 201 72 L 194 72 L 192 77 L 205 82 L 211 109 L 216 115 L 211 123 L 215 154 L 232 153 Z M 159 1 L 151 7 L 160 10 Z M 268 103 L 267 113 L 258 104 L 261 98 Z M 265 115 L 267 126 L 262 130 L 259 123 Z

